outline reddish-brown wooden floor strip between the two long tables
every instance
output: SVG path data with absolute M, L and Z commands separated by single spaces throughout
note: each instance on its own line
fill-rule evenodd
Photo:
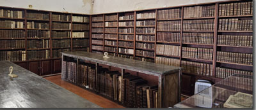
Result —
M 112 102 L 111 100 L 101 97 L 100 95 L 89 92 L 88 90 L 84 90 L 83 88 L 80 88 L 79 86 L 72 85 L 71 83 L 61 80 L 61 75 L 49 76 L 49 77 L 45 77 L 45 79 L 69 90 L 70 92 L 76 93 L 80 97 L 83 97 L 84 99 L 89 100 L 89 101 L 99 105 L 100 107 L 125 108 L 123 106 L 116 104 L 115 102 Z M 181 100 L 184 100 L 184 99 L 185 99 L 184 97 L 181 97 Z

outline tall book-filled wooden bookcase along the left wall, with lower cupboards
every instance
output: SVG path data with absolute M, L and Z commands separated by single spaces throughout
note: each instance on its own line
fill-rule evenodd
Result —
M 52 18 L 54 15 L 60 15 L 57 17 L 58 20 Z M 69 19 L 61 17 L 63 15 L 69 16 Z M 72 20 L 74 16 L 86 18 L 80 20 L 81 18 L 75 17 L 78 20 L 76 21 Z M 11 60 L 40 76 L 61 72 L 60 52 L 89 50 L 90 15 L 1 6 L 0 20 L 2 23 L 0 29 L 1 60 Z M 5 20 L 8 22 L 4 22 Z M 55 24 L 70 24 L 70 27 L 62 29 L 56 27 Z M 84 28 L 72 29 L 72 26 L 77 24 Z M 54 34 L 54 32 L 69 32 L 69 35 L 63 36 Z M 86 34 L 72 37 L 74 32 L 86 32 Z M 67 39 L 69 40 L 65 44 L 67 46 L 63 46 L 62 40 Z M 4 42 L 4 40 L 7 41 Z

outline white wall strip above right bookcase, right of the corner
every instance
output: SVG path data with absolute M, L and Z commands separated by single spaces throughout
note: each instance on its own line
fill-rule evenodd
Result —
M 215 1 L 225 0 L 95 0 L 93 14 L 163 8 L 165 6 L 180 6 Z

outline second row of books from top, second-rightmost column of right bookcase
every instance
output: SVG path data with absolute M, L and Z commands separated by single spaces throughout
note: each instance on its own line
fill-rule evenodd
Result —
M 184 31 L 214 31 L 214 20 L 184 20 Z

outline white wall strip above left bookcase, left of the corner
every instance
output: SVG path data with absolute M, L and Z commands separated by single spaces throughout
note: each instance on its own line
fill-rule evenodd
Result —
M 0 0 L 0 6 L 92 14 L 92 0 Z M 65 10 L 64 10 L 64 9 Z

